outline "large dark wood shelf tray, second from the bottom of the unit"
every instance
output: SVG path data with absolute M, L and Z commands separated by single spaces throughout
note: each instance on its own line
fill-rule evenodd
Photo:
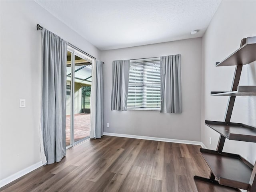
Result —
M 253 166 L 236 154 L 200 149 L 204 160 L 221 185 L 248 190 Z

